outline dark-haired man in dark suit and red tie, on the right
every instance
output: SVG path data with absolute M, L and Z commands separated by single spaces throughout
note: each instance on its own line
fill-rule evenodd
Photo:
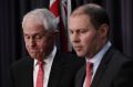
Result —
M 81 6 L 70 15 L 71 43 L 86 61 L 75 87 L 133 87 L 133 61 L 112 47 L 109 26 L 106 11 L 94 3 Z

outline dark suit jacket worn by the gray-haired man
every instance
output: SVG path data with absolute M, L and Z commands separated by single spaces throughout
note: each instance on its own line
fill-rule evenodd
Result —
M 82 62 L 80 62 L 82 61 Z M 48 87 L 73 87 L 76 70 L 83 59 L 58 52 L 53 59 Z M 33 59 L 22 58 L 11 67 L 11 87 L 33 87 Z

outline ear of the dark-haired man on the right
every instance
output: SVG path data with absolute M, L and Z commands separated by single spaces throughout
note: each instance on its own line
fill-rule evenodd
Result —
M 99 29 L 99 34 L 102 39 L 108 37 L 109 25 L 103 23 Z

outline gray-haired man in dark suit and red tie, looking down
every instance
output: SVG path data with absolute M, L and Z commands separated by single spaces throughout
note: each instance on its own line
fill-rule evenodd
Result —
M 29 56 L 11 66 L 11 87 L 73 87 L 82 63 L 74 55 L 57 50 L 57 25 L 55 17 L 47 9 L 24 15 L 22 29 Z

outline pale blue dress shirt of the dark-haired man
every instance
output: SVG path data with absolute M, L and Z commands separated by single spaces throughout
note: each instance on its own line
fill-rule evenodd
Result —
M 109 50 L 109 47 L 111 46 L 111 42 L 109 41 L 103 48 L 96 54 L 94 55 L 92 58 L 85 57 L 86 62 L 93 63 L 93 74 L 92 74 L 92 79 L 95 75 L 95 72 L 98 69 L 98 66 L 100 65 L 100 62 L 103 57 L 103 55 L 106 53 L 106 51 Z M 85 80 L 83 84 L 83 87 L 85 87 Z

